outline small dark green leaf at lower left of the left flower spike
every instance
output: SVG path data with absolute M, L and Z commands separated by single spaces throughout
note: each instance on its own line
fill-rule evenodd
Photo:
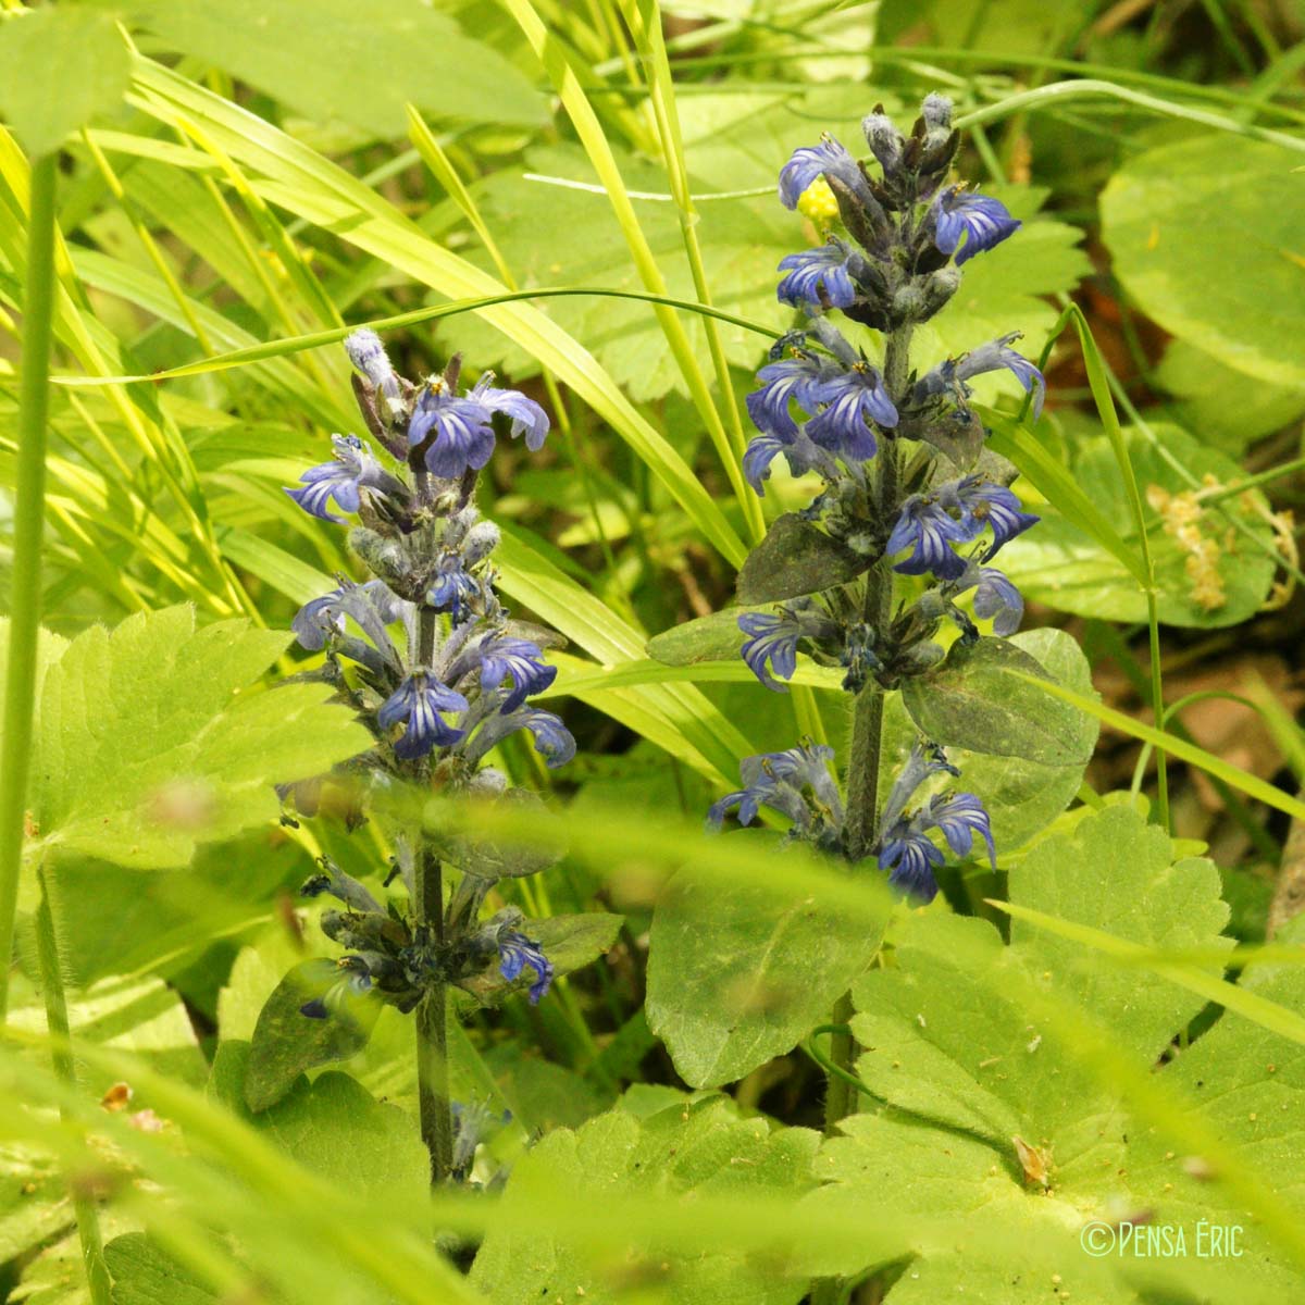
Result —
M 305 1070 L 356 1056 L 372 1035 L 381 1002 L 372 994 L 331 1001 L 325 1019 L 300 1007 L 341 983 L 339 967 L 317 958 L 295 966 L 268 998 L 254 1026 L 244 1099 L 256 1113 L 279 1101 Z

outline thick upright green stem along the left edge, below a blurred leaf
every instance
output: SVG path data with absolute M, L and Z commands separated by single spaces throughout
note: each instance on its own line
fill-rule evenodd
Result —
M 26 826 L 31 715 L 40 638 L 40 543 L 46 522 L 46 415 L 50 406 L 50 316 L 55 295 L 54 154 L 31 166 L 27 269 L 22 299 L 18 467 L 13 495 L 9 671 L 0 753 L 0 1024 L 9 1005 L 9 959 Z

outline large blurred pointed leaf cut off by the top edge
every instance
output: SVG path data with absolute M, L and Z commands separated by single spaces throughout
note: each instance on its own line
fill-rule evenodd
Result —
M 405 104 L 441 117 L 539 127 L 543 97 L 497 51 L 465 37 L 419 0 L 315 0 L 304 57 L 304 12 L 294 0 L 128 0 L 133 20 L 163 42 L 217 64 L 318 123 L 403 136 Z M 378 74 L 384 69 L 384 74 Z

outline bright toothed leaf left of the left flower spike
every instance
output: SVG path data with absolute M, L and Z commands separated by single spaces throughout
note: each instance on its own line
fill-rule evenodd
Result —
M 288 636 L 194 628 L 189 607 L 78 636 L 44 681 L 35 818 L 47 847 L 141 869 L 274 823 L 273 784 L 329 770 L 372 739 L 320 684 L 252 684 Z

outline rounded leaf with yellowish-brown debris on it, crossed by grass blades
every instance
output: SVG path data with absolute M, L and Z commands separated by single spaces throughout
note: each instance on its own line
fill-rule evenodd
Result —
M 1275 545 L 1265 519 L 1267 501 L 1251 489 L 1221 497 L 1218 508 L 1205 502 L 1199 495 L 1235 485 L 1244 476 L 1241 468 L 1177 427 L 1155 423 L 1151 432 L 1155 444 L 1139 429 L 1124 433 L 1146 501 L 1160 620 L 1202 628 L 1236 625 L 1259 608 L 1272 582 Z M 1109 441 L 1082 441 L 1070 470 L 1082 492 L 1135 549 L 1133 514 Z M 1237 532 L 1233 521 L 1262 547 Z M 1002 549 L 1001 569 L 1026 596 L 1060 611 L 1114 621 L 1147 619 L 1137 579 L 1096 540 L 1053 513 Z

